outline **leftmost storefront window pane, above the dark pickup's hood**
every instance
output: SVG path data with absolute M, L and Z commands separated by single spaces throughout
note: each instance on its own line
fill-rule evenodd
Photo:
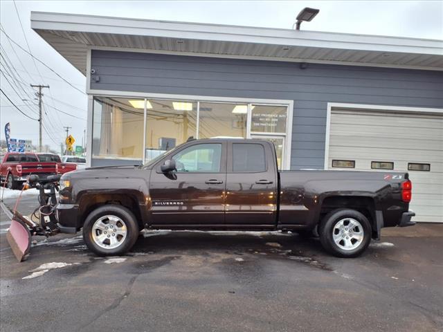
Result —
M 144 100 L 94 98 L 92 156 L 141 159 Z

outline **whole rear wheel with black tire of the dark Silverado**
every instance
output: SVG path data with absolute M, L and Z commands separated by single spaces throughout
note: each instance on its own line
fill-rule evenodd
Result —
M 320 224 L 320 242 L 336 257 L 357 257 L 368 248 L 372 228 L 368 219 L 356 210 L 334 210 Z

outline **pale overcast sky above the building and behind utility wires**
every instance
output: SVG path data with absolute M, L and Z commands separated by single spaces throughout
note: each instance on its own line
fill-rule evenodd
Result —
M 267 28 L 292 28 L 302 8 L 320 9 L 302 30 L 365 35 L 387 35 L 443 39 L 443 1 L 0 1 L 3 30 L 26 50 L 81 91 L 86 78 L 30 28 L 30 12 L 64 12 L 110 17 L 190 21 Z M 17 10 L 16 10 L 17 8 Z M 23 26 L 21 29 L 20 21 Z M 26 36 L 26 39 L 25 39 Z M 0 86 L 21 111 L 37 118 L 35 89 L 29 84 L 49 85 L 43 89 L 43 145 L 60 151 L 66 131 L 81 145 L 87 118 L 87 96 L 66 84 L 44 65 L 33 61 L 3 33 Z M 8 66 L 10 69 L 8 70 Z M 3 74 L 6 71 L 6 74 Z M 15 78 L 8 73 L 16 73 Z M 20 82 L 17 82 L 19 80 Z M 9 84 L 8 81 L 11 83 Z M 24 101 L 23 101 L 24 100 Z M 60 111 L 58 111 L 58 110 Z M 64 113 L 73 116 L 68 116 Z M 2 94 L 0 100 L 0 138 L 10 122 L 11 137 L 33 140 L 38 145 L 39 124 L 19 113 Z

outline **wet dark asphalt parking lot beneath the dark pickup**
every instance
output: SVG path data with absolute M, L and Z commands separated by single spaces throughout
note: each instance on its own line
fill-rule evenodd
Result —
M 442 225 L 384 230 L 357 259 L 296 234 L 164 231 L 105 258 L 80 233 L 39 237 L 23 263 L 6 228 L 1 212 L 2 331 L 443 329 Z

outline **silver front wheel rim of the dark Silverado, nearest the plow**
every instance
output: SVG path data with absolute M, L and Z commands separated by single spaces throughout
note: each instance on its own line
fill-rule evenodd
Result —
M 92 225 L 92 239 L 100 248 L 118 248 L 123 244 L 126 237 L 125 221 L 118 218 L 118 216 L 100 216 Z

